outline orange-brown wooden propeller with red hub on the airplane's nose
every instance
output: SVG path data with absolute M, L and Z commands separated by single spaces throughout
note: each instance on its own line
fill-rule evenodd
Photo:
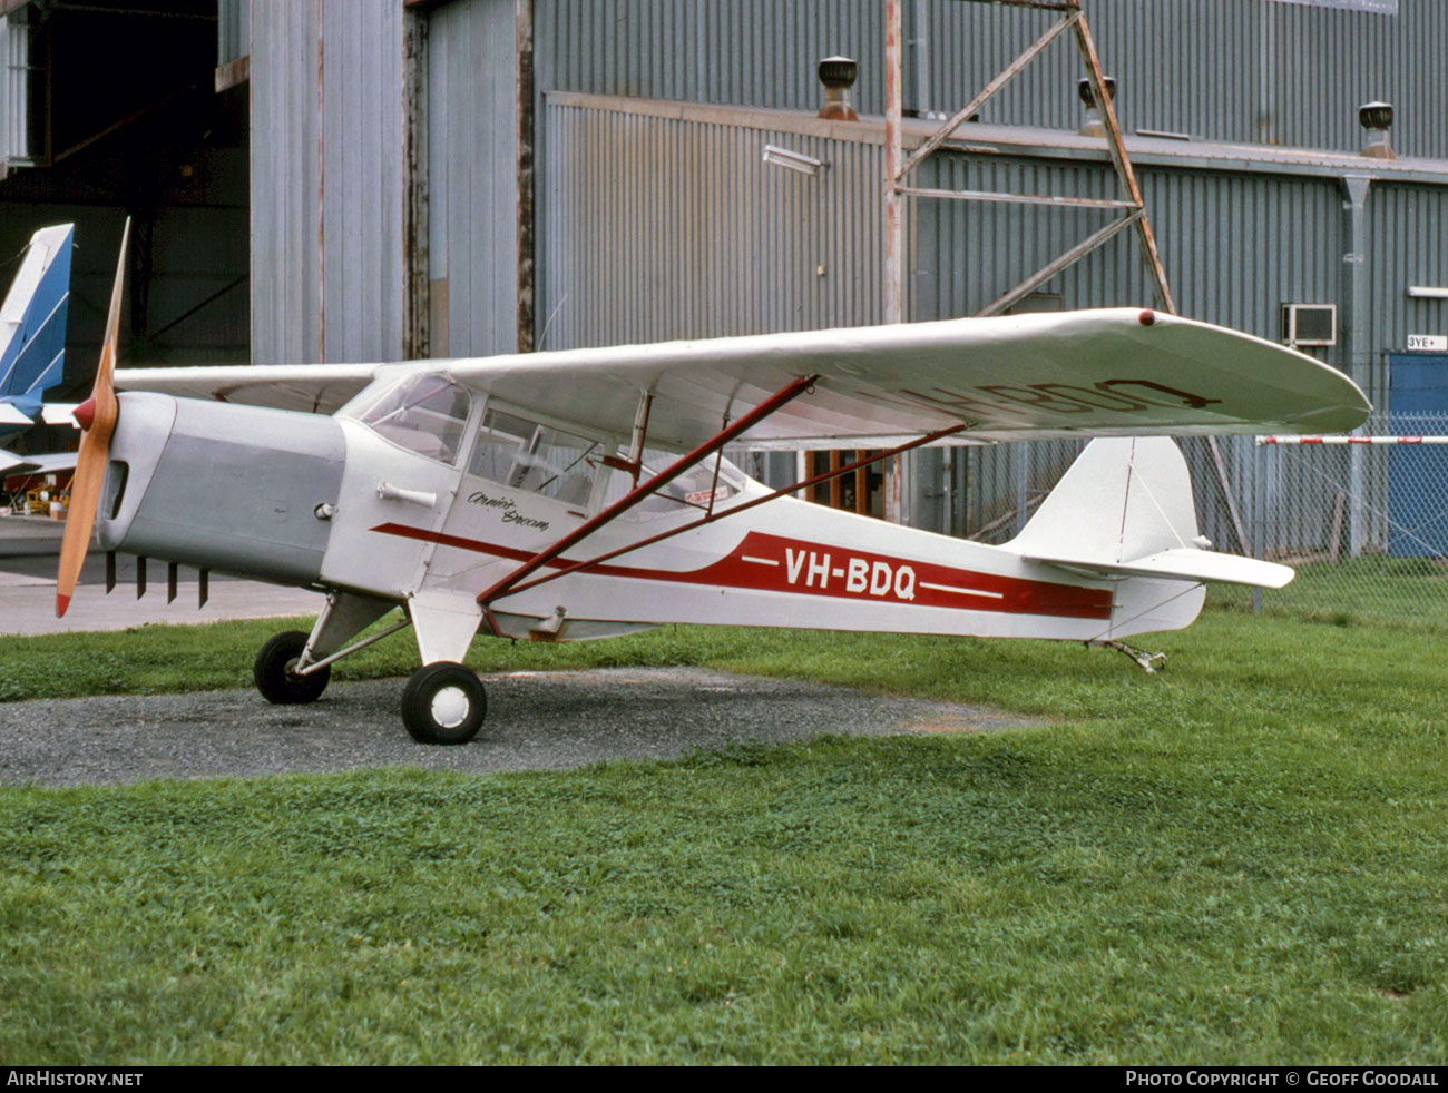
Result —
M 75 582 L 80 579 L 85 553 L 90 550 L 96 508 L 100 505 L 100 489 L 106 481 L 106 460 L 110 457 L 110 437 L 116 431 L 116 418 L 120 411 L 113 376 L 129 245 L 130 217 L 126 217 L 126 229 L 120 236 L 120 259 L 116 263 L 116 282 L 110 290 L 110 313 L 106 316 L 106 342 L 101 345 L 100 363 L 96 366 L 96 382 L 91 385 L 91 397 L 75 410 L 75 420 L 85 431 L 81 436 L 81 450 L 75 457 L 71 507 L 65 518 L 65 537 L 61 540 L 61 563 L 55 581 L 56 618 L 62 617 L 71 605 Z

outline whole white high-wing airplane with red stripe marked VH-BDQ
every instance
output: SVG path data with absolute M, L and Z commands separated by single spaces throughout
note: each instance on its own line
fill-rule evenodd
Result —
M 1118 643 L 1184 627 L 1203 581 L 1276 588 L 1292 570 L 1203 549 L 1161 434 L 1345 430 L 1368 411 L 1312 358 L 1134 308 L 113 378 L 119 277 L 77 411 L 58 612 L 98 508 L 106 550 L 164 559 L 172 578 L 180 563 L 324 594 L 310 634 L 256 657 L 271 702 L 314 701 L 336 660 L 411 625 L 423 666 L 403 722 L 433 744 L 482 725 L 484 685 L 460 663 L 479 633 L 715 623 Z M 770 489 L 720 455 L 1098 434 L 1114 439 L 1003 547 L 796 501 L 830 475 Z M 398 605 L 401 623 L 355 640 Z

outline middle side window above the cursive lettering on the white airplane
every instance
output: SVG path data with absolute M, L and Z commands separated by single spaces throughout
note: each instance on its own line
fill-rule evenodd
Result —
M 604 446 L 517 414 L 489 410 L 468 473 L 571 505 L 586 505 Z

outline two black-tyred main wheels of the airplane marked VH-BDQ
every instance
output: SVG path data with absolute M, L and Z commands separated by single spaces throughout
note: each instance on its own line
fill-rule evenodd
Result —
M 327 689 L 332 663 L 307 667 L 307 634 L 288 630 L 261 647 L 252 678 L 272 705 L 316 702 Z M 450 662 L 424 664 L 403 688 L 403 724 L 418 744 L 466 744 L 488 715 L 488 693 L 478 676 Z

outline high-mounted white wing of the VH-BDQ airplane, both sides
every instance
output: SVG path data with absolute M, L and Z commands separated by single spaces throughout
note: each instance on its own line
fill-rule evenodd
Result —
M 867 447 L 964 423 L 966 443 L 1070 436 L 1344 431 L 1370 405 L 1305 353 L 1138 308 L 956 318 L 646 346 L 433 360 L 518 410 L 689 449 L 801 376 L 811 394 L 741 439 Z M 116 387 L 329 410 L 382 365 L 145 369 Z

